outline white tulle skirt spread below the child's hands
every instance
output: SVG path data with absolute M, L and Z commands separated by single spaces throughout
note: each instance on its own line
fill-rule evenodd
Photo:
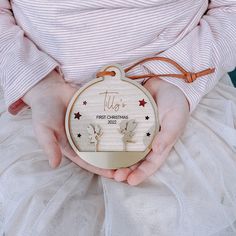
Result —
M 137 187 L 66 158 L 50 169 L 30 110 L 0 104 L 0 235 L 236 235 L 236 89 L 202 99 L 164 166 Z

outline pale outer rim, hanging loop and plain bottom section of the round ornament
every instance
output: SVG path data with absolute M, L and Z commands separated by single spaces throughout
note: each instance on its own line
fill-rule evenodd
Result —
M 134 86 L 138 87 L 138 89 L 142 90 L 143 93 L 146 94 L 146 96 L 149 98 L 149 101 L 151 102 L 151 105 L 154 109 L 155 113 L 155 130 L 154 130 L 154 135 L 152 135 L 152 140 L 151 143 L 153 142 L 153 139 L 155 135 L 158 132 L 158 127 L 159 127 L 159 121 L 158 121 L 158 116 L 157 116 L 157 105 L 156 102 L 154 101 L 153 97 L 149 93 L 147 89 L 145 89 L 141 84 L 128 79 L 125 77 L 125 73 L 121 65 L 119 64 L 114 64 L 110 66 L 103 67 L 101 71 L 115 71 L 116 75 L 112 76 L 112 79 L 117 79 L 114 77 L 118 77 L 121 80 L 124 80 L 128 83 L 133 84 Z M 97 79 L 94 79 L 87 84 L 85 84 L 83 87 L 81 87 L 72 97 L 67 111 L 66 111 L 66 116 L 65 116 L 65 130 L 66 130 L 66 135 L 68 138 L 68 141 L 72 147 L 72 149 L 75 151 L 75 153 L 82 158 L 84 161 L 88 162 L 91 165 L 94 165 L 99 168 L 104 168 L 104 169 L 118 169 L 122 167 L 128 167 L 131 166 L 143 158 L 146 157 L 146 155 L 151 151 L 151 144 L 147 147 L 147 149 L 144 152 L 81 152 L 78 150 L 76 145 L 74 144 L 74 141 L 71 137 L 70 134 L 70 116 L 71 116 L 71 111 L 74 106 L 75 101 L 77 100 L 77 97 L 84 92 L 88 87 L 94 85 L 95 83 L 99 83 L 103 81 L 106 77 L 111 77 L 111 76 L 104 76 L 104 77 L 99 77 Z

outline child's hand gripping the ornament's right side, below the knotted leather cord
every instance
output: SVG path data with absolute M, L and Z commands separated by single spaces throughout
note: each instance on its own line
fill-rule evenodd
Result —
M 146 159 L 130 168 L 116 170 L 114 178 L 137 185 L 156 172 L 168 157 L 173 145 L 182 134 L 189 117 L 189 105 L 183 92 L 160 79 L 150 79 L 145 87 L 157 102 L 161 131 L 152 144 Z

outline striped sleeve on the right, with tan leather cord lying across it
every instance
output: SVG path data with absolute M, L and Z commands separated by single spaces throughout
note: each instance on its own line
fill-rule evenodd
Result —
M 215 68 L 214 74 L 185 83 L 176 78 L 162 78 L 179 87 L 186 95 L 192 112 L 201 98 L 207 94 L 222 77 L 236 66 L 236 2 L 234 0 L 212 0 L 200 23 L 181 41 L 159 56 L 168 57 L 190 72 Z M 143 64 L 149 73 L 169 74 L 179 71 L 173 66 L 151 61 Z

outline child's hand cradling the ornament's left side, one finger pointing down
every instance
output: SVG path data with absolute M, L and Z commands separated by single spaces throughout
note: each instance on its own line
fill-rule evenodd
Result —
M 76 88 L 65 83 L 63 78 L 53 71 L 25 94 L 23 100 L 32 109 L 33 127 L 38 142 L 52 167 L 60 164 L 62 154 L 64 154 L 80 167 L 112 178 L 114 171 L 89 165 L 76 155 L 67 141 L 64 125 L 65 113 L 76 91 Z

